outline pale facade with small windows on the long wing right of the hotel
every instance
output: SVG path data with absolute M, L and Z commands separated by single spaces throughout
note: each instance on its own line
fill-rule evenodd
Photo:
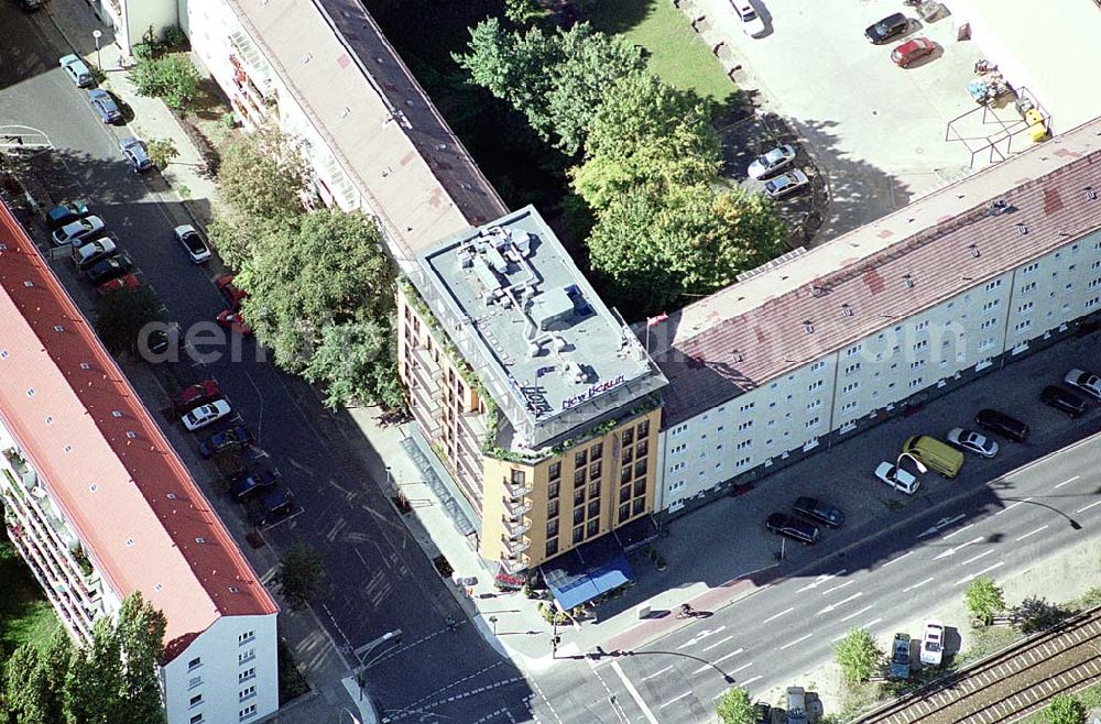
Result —
M 833 431 L 855 430 L 862 418 L 990 370 L 1002 355 L 1026 352 L 1099 310 L 1101 231 L 1094 231 L 666 427 L 655 508 L 676 512 L 689 498 L 822 445 Z M 884 456 L 893 459 L 894 451 Z

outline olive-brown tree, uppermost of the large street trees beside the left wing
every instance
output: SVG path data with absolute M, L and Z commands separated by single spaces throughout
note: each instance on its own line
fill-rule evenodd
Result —
M 252 220 L 275 221 L 303 213 L 309 183 L 302 142 L 274 125 L 236 140 L 218 166 L 218 190 Z

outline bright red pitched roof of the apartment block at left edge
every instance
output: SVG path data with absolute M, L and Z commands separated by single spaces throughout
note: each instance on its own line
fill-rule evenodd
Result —
M 111 588 L 162 610 L 168 656 L 279 611 L 37 249 L 0 204 L 0 418 Z M 199 541 L 201 540 L 201 542 Z

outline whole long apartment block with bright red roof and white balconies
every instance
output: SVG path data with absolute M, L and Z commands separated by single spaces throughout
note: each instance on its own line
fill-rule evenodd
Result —
M 170 724 L 274 712 L 279 607 L 2 206 L 0 288 L 0 494 L 62 623 L 88 640 L 141 591 L 167 618 Z

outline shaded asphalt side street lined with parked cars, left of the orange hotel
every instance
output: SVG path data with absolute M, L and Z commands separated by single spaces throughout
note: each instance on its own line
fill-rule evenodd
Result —
M 4 2 L 0 26 L 6 40 L 0 44 L 0 125 L 33 127 L 50 138 L 55 151 L 36 160 L 41 182 L 55 198 L 85 199 L 106 219 L 170 319 L 185 331 L 212 320 L 225 308 L 212 285 L 214 270 L 192 264 L 172 239 L 172 228 L 189 221 L 186 211 L 162 196 L 165 187 L 155 174 L 139 178 L 124 165 L 117 143 L 127 129 L 101 124 L 85 92 L 62 74 L 57 58 L 70 50 L 48 17 L 28 17 Z M 91 316 L 87 285 L 76 279 L 67 261 L 53 266 Z M 179 384 L 215 379 L 283 473 L 301 509 L 264 536 L 276 549 L 304 540 L 323 555 L 331 586 L 319 611 L 336 640 L 356 648 L 388 630 L 403 630 L 400 646 L 371 667 L 368 679 L 377 701 L 401 713 L 417 702 L 461 694 L 448 703 L 453 717 L 473 721 L 486 712 L 503 715 L 512 706 L 513 716 L 524 718 L 531 690 L 512 662 L 466 624 L 461 608 L 371 482 L 350 448 L 367 442 L 356 438 L 350 423 L 325 410 L 308 387 L 262 360 L 262 352 L 244 340 L 238 353 L 227 345 L 220 359 L 205 365 L 182 361 L 159 373 Z M 152 410 L 166 403 L 145 402 Z M 197 462 L 194 436 L 154 417 L 177 447 L 185 440 L 181 453 L 222 517 L 242 515 L 237 503 L 209 483 L 212 470 Z M 449 632 L 446 616 L 464 624 Z M 481 688 L 486 690 L 477 695 L 469 693 Z

